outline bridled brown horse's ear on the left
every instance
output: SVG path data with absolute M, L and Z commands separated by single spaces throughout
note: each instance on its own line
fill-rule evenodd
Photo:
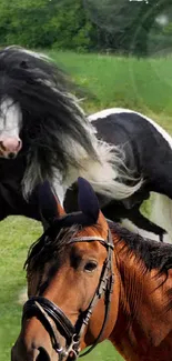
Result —
M 65 214 L 50 183 L 44 181 L 39 187 L 39 207 L 43 220 L 50 225 L 54 219 Z

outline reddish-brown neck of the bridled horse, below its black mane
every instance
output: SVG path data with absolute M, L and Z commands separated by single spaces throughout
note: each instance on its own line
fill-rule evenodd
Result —
M 158 277 L 156 270 L 146 270 L 144 261 L 131 252 L 123 241 L 117 242 L 115 253 L 120 299 L 118 319 L 110 339 L 119 351 L 133 352 L 130 360 L 138 361 L 134 355 L 139 350 L 159 347 L 171 332 L 172 309 L 166 311 L 165 305 L 171 305 L 172 271 L 165 281 L 165 274 Z M 162 284 L 163 281 L 165 283 Z

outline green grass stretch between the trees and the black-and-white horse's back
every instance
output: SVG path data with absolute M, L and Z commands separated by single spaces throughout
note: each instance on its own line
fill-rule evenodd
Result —
M 172 129 L 172 57 L 136 60 L 55 51 L 49 54 L 95 97 L 85 99 L 85 111 L 131 108 L 154 116 Z

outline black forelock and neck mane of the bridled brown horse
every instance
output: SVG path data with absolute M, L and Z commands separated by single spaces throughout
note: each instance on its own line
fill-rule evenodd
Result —
M 78 230 L 85 225 L 74 225 L 75 222 L 72 222 L 72 217 L 71 221 L 69 221 L 70 215 L 69 220 L 68 217 L 63 220 L 62 222 L 55 222 L 31 245 L 26 261 L 27 267 L 31 261 L 33 261 L 33 268 L 41 267 L 53 257 L 53 253 L 58 257 L 58 254 L 62 253 L 62 249 L 67 245 L 70 238 L 74 237 Z M 109 227 L 119 237 L 118 242 L 124 241 L 129 257 L 131 253 L 134 253 L 136 258 L 144 262 L 146 270 L 156 269 L 159 273 L 164 272 L 166 274 L 168 270 L 172 268 L 171 244 L 142 238 L 140 234 L 132 233 L 111 221 Z

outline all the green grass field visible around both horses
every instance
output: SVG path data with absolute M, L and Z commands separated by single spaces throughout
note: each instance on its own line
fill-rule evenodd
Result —
M 172 132 L 172 58 L 136 60 L 98 54 L 50 51 L 79 84 L 87 87 L 88 112 L 128 107 L 153 117 Z M 149 203 L 144 211 L 149 212 Z M 10 349 L 20 330 L 22 307 L 19 294 L 26 284 L 23 262 L 29 245 L 41 233 L 38 222 L 10 217 L 0 223 L 0 360 L 10 360 Z M 122 360 L 108 342 L 97 347 L 87 361 Z M 23 360 L 24 361 L 24 360 Z

